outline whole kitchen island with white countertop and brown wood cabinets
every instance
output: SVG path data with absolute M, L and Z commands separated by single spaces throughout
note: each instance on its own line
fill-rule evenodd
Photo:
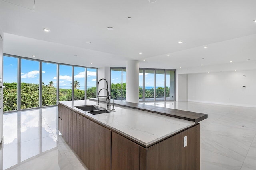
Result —
M 58 128 L 90 170 L 200 169 L 200 124 L 196 121 L 122 105 L 93 115 L 79 109 L 86 105 L 97 103 L 59 102 Z M 99 107 L 107 106 L 100 102 Z

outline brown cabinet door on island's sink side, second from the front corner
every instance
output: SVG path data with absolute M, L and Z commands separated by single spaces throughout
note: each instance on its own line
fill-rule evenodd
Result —
M 111 169 L 111 131 L 90 121 L 90 170 Z

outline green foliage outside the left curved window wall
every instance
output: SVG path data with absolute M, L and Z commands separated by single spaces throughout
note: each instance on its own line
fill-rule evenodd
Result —
M 52 83 L 49 83 L 52 84 Z M 17 110 L 17 83 L 4 83 L 4 111 Z M 60 100 L 69 101 L 72 98 L 71 89 L 59 89 Z M 87 99 L 96 97 L 96 86 L 87 89 Z M 83 100 L 84 90 L 74 89 L 74 100 Z M 39 107 L 39 85 L 21 83 L 21 109 Z M 42 106 L 57 104 L 57 89 L 42 84 Z

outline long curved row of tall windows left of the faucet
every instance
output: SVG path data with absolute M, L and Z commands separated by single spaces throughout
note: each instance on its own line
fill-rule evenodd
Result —
M 2 81 L 6 86 L 4 112 L 56 105 L 58 101 L 85 99 L 86 95 L 89 99 L 96 97 L 97 93 L 96 68 L 14 55 L 4 54 Z

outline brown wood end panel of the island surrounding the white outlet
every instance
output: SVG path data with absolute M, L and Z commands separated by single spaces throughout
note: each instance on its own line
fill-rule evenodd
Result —
M 183 137 L 187 146 L 183 147 Z M 200 170 L 200 124 L 146 149 L 147 170 Z

